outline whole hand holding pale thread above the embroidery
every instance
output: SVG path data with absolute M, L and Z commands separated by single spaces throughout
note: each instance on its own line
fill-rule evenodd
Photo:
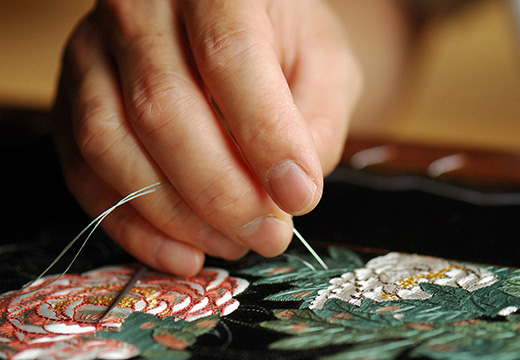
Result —
M 339 161 L 359 88 L 319 1 L 104 0 L 68 43 L 55 142 L 91 215 L 171 183 L 103 226 L 144 263 L 193 275 L 204 253 L 285 250 L 291 215 L 316 206 Z

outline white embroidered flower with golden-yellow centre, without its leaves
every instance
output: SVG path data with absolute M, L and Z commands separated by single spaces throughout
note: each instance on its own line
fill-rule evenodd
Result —
M 432 294 L 421 289 L 423 282 L 471 292 L 496 281 L 495 274 L 476 266 L 463 266 L 429 256 L 390 253 L 370 260 L 361 269 L 330 280 L 331 286 L 321 290 L 309 308 L 321 309 L 329 298 L 357 306 L 363 299 L 377 302 L 425 300 Z

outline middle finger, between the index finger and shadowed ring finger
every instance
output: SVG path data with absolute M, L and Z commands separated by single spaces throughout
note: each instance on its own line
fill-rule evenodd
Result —
M 121 111 L 135 151 L 153 164 L 148 168 L 152 173 L 172 184 L 177 200 L 185 204 L 182 212 L 192 212 L 208 224 L 197 234 L 201 246 L 217 251 L 222 242 L 211 234 L 218 233 L 239 244 L 228 251 L 235 253 L 233 257 L 245 248 L 277 255 L 291 239 L 291 217 L 251 173 L 216 115 L 176 19 L 157 16 L 153 34 L 138 21 L 126 32 L 131 38 L 111 48 L 124 99 Z M 255 221 L 270 225 L 241 231 Z

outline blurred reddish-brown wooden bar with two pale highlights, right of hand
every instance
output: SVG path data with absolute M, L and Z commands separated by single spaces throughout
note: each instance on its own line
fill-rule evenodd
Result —
M 386 175 L 419 175 L 488 191 L 520 190 L 520 154 L 352 136 L 342 163 Z

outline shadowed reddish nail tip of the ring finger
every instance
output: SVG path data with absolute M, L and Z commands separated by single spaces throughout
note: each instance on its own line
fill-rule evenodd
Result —
M 233 242 L 209 224 L 200 231 L 199 242 L 208 255 L 228 260 L 240 258 L 248 250 L 243 245 Z

